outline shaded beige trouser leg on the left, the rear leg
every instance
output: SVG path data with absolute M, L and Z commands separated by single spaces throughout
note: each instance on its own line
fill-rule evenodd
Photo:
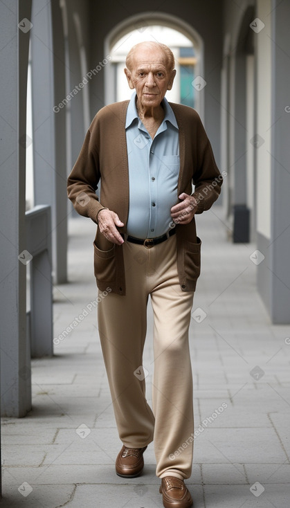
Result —
M 120 439 L 128 448 L 142 448 L 153 439 L 154 415 L 140 369 L 147 328 L 145 267 L 134 247 L 123 245 L 126 296 L 109 293 L 102 299 L 98 329 Z

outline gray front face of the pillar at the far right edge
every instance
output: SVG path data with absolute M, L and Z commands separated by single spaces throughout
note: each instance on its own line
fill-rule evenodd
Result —
M 290 323 L 290 2 L 273 1 L 271 129 L 271 318 Z M 268 275 L 269 276 L 269 275 Z

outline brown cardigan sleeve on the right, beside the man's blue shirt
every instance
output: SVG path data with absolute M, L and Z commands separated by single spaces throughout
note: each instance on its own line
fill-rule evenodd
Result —
M 192 176 L 195 185 L 192 196 L 197 201 L 197 214 L 209 210 L 219 197 L 223 177 L 215 162 L 206 131 L 198 117 L 197 127 L 197 170 Z

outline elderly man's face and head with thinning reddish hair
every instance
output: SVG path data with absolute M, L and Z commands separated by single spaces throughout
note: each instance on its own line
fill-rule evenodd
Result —
M 166 66 L 163 51 L 138 48 L 132 55 L 132 69 L 125 69 L 131 89 L 136 89 L 138 101 L 145 108 L 158 107 L 167 90 L 172 88 L 176 71 Z

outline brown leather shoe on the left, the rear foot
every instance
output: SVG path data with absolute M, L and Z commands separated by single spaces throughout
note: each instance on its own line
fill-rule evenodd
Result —
M 116 473 L 122 478 L 136 478 L 140 475 L 143 467 L 143 453 L 147 446 L 144 448 L 126 448 L 123 445 L 118 457 L 116 459 Z

